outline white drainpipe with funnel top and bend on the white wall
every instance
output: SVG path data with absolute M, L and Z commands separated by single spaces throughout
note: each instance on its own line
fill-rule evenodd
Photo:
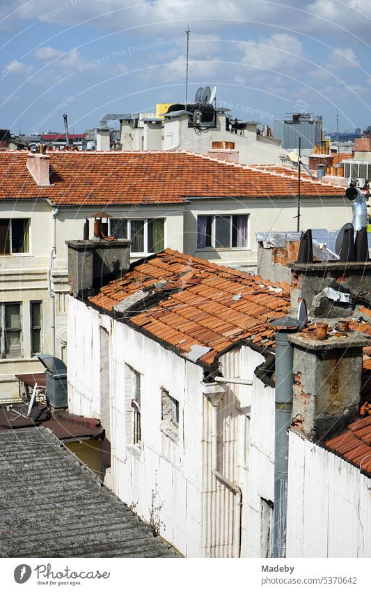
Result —
M 228 379 L 229 381 L 229 379 Z M 203 394 L 212 404 L 212 474 L 214 477 L 225 485 L 230 491 L 235 494 L 235 524 L 233 527 L 233 556 L 240 556 L 241 547 L 241 514 L 242 514 L 242 491 L 232 481 L 227 479 L 220 471 L 218 471 L 218 404 L 223 399 L 226 391 L 221 388 L 217 382 L 205 383 L 203 385 Z

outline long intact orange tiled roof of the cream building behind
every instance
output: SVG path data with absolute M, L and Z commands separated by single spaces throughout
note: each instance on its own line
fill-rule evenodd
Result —
M 38 186 L 27 153 L 0 153 L 0 199 L 47 197 L 56 205 L 182 203 L 186 197 L 295 197 L 297 179 L 189 152 L 54 152 L 51 186 Z M 343 190 L 303 179 L 301 195 L 336 197 Z

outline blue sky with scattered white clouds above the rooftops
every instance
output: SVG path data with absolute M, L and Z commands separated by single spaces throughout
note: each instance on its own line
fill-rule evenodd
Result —
M 97 125 L 217 86 L 239 119 L 371 124 L 370 0 L 0 0 L 0 128 Z

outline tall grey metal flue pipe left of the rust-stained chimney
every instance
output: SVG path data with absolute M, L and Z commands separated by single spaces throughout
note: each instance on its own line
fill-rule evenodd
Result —
M 299 321 L 292 317 L 272 321 L 276 326 L 276 402 L 274 434 L 274 510 L 272 557 L 286 556 L 287 477 L 289 457 L 288 428 L 292 419 L 293 349 L 287 339 L 297 331 Z

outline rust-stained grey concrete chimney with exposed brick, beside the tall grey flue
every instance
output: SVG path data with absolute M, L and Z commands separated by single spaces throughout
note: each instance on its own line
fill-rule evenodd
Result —
M 324 340 L 311 333 L 288 337 L 294 348 L 292 425 L 325 441 L 359 414 L 363 347 L 370 341 L 358 331 L 330 333 Z

